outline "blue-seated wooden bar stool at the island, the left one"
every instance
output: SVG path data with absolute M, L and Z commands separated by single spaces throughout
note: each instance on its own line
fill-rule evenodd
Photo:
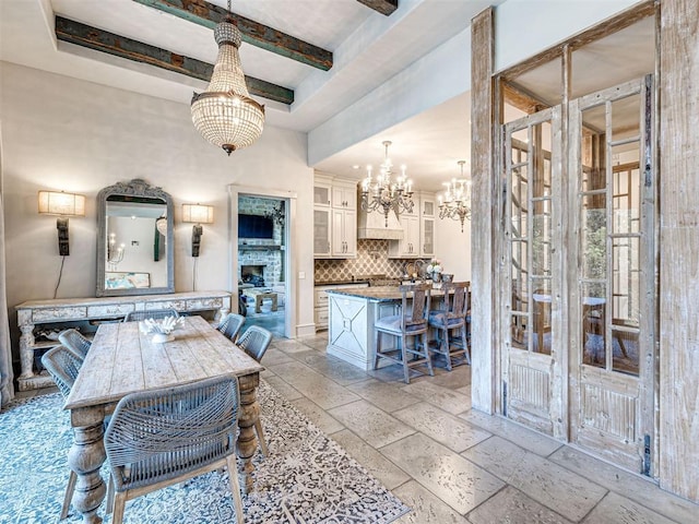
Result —
M 411 284 L 399 286 L 401 291 L 401 311 L 399 314 L 382 317 L 374 324 L 376 331 L 376 357 L 374 369 L 379 366 L 380 359 L 388 359 L 403 366 L 403 377 L 410 384 L 410 370 L 417 366 L 427 366 L 430 376 L 435 374 L 433 362 L 427 348 L 427 312 L 429 311 L 430 290 L 433 285 Z M 412 299 L 408 297 L 412 296 Z M 381 334 L 392 335 L 398 338 L 399 347 L 383 349 L 381 347 Z M 413 338 L 413 346 L 408 347 L 408 338 Z

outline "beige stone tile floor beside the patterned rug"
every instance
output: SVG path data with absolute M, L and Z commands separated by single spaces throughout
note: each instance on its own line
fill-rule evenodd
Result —
M 471 368 L 402 382 L 327 356 L 327 334 L 275 338 L 264 379 L 413 511 L 396 523 L 665 524 L 699 505 L 500 417 L 471 409 Z

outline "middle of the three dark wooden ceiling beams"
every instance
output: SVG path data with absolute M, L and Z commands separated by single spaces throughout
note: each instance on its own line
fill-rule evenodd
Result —
M 230 16 L 237 24 L 238 29 L 240 29 L 244 41 L 323 71 L 332 68 L 331 51 L 308 44 L 273 27 L 262 25 L 253 20 L 240 16 L 239 14 L 229 13 L 224 8 L 209 3 L 205 0 L 133 1 L 211 29 L 226 16 Z

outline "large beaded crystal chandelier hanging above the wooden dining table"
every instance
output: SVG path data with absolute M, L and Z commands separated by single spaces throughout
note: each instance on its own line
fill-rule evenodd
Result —
M 230 0 L 228 0 L 230 12 Z M 192 122 L 214 145 L 230 155 L 262 134 L 264 106 L 250 98 L 240 66 L 240 32 L 232 17 L 214 28 L 218 57 L 206 91 L 192 96 Z

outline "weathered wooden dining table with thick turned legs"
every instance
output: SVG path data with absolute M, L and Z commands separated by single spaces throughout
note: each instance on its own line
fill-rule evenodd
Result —
M 183 317 L 174 335 L 173 342 L 155 344 L 139 322 L 104 323 L 95 334 L 64 405 L 73 427 L 68 464 L 78 476 L 73 508 L 85 523 L 102 522 L 97 512 L 106 495 L 99 475 L 106 460 L 104 421 L 129 393 L 237 377 L 240 486 L 246 493 L 252 490 L 254 422 L 260 415 L 257 391 L 264 368 L 201 317 Z

